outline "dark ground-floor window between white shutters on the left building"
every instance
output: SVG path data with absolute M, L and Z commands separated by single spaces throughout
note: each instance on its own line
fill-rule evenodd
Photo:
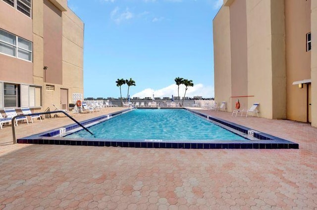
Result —
M 4 107 L 18 107 L 18 84 L 3 84 Z

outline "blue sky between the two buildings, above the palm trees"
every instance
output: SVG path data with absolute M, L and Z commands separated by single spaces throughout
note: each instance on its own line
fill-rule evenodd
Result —
M 89 2 L 89 3 L 88 3 Z M 222 0 L 68 0 L 85 24 L 84 97 L 213 97 L 212 19 Z M 122 86 L 122 96 L 127 94 Z M 185 86 L 180 86 L 183 95 Z

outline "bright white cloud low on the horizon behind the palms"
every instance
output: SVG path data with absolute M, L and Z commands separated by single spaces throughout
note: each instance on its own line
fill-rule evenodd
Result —
M 181 84 L 179 86 L 179 96 L 183 97 L 185 92 L 185 86 Z M 155 90 L 152 88 L 144 89 L 134 95 L 132 97 L 171 97 L 172 95 L 177 96 L 177 85 L 171 84 L 167 87 L 163 87 L 161 89 Z M 204 86 L 203 84 L 195 84 L 192 87 L 188 87 L 186 91 L 186 97 L 194 97 L 194 96 L 203 96 L 204 98 L 211 98 L 214 96 L 214 89 L 211 86 Z

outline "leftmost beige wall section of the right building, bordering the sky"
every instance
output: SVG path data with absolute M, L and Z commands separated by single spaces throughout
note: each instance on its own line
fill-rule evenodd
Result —
M 213 19 L 215 101 L 227 102 L 231 111 L 230 10 L 223 6 Z

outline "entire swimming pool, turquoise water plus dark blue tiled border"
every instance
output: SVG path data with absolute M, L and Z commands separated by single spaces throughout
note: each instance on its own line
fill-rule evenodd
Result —
M 131 121 L 133 118 L 135 120 Z M 145 123 L 148 119 L 152 121 Z M 185 149 L 298 149 L 299 147 L 297 143 L 185 108 L 132 111 L 127 109 L 81 123 L 89 127 L 93 133 L 95 130 L 105 129 L 105 136 L 100 134 L 103 132 L 96 132 L 96 138 L 93 138 L 91 134 L 87 135 L 86 131 L 80 131 L 78 125 L 72 124 L 20 138 L 17 142 Z M 175 127 L 180 130 L 179 133 L 176 133 Z M 223 128 L 226 134 L 218 135 L 218 129 L 223 131 Z M 161 133 L 166 135 L 160 135 Z

